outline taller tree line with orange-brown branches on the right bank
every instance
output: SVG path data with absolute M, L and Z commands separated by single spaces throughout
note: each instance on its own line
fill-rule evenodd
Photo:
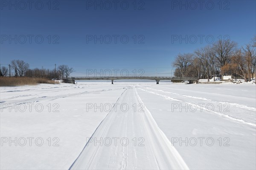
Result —
M 212 45 L 179 54 L 172 65 L 175 77 L 213 78 L 232 75 L 251 81 L 256 75 L 256 36 L 251 43 L 239 47 L 231 40 L 218 40 Z

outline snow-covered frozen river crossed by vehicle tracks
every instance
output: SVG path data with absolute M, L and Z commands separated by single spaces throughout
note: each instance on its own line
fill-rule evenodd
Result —
M 0 169 L 256 169 L 252 84 L 40 84 L 0 92 Z

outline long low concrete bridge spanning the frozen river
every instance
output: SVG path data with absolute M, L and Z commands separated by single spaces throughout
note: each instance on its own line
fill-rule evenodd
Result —
M 96 77 L 71 77 L 67 78 L 67 82 L 75 84 L 77 80 L 111 80 L 112 84 L 114 80 L 125 80 L 125 79 L 140 79 L 140 80 L 155 80 L 159 84 L 160 80 L 170 81 L 189 81 L 189 84 L 196 81 L 195 78 L 177 78 L 177 77 L 160 77 L 160 76 L 96 76 Z

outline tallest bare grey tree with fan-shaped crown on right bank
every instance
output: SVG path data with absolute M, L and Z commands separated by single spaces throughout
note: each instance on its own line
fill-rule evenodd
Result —
M 218 59 L 220 66 L 225 66 L 230 62 L 235 50 L 237 43 L 228 40 L 218 40 L 213 44 L 212 49 L 216 53 L 216 58 Z M 223 71 L 222 75 L 224 74 Z

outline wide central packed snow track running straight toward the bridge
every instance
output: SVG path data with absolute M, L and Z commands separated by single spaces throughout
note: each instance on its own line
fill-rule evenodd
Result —
M 94 141 L 110 138 L 112 144 L 107 146 L 104 142 L 87 142 L 71 170 L 188 169 L 148 109 L 144 107 L 144 112 L 139 112 L 138 106 L 143 102 L 134 86 L 128 87 L 116 103 L 128 104 L 128 111 L 113 107 L 91 136 Z M 137 109 L 132 107 L 134 104 Z M 128 143 L 118 140 L 115 144 L 113 138 L 127 138 Z

